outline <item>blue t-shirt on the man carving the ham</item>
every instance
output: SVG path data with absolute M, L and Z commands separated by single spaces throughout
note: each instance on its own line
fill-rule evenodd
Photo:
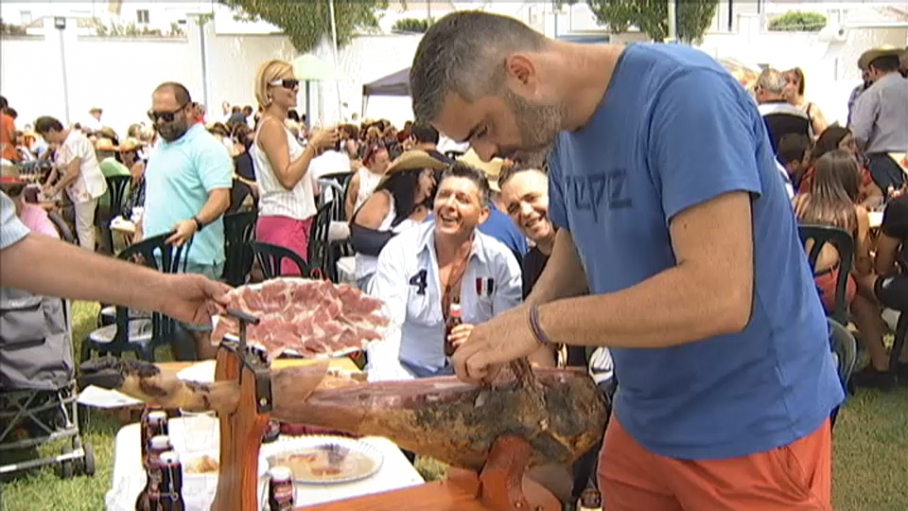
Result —
M 561 133 L 550 158 L 549 214 L 573 234 L 592 293 L 673 267 L 679 212 L 726 192 L 753 198 L 745 330 L 612 350 L 615 411 L 635 440 L 663 456 L 731 458 L 787 445 L 829 417 L 844 395 L 788 195 L 756 105 L 718 63 L 680 45 L 629 46 L 593 117 Z

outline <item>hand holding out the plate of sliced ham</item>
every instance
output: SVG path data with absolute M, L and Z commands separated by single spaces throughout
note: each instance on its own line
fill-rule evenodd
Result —
M 166 316 L 194 325 L 210 325 L 219 306 L 227 306 L 230 287 L 202 275 L 161 275 L 166 279 L 158 297 L 158 307 Z

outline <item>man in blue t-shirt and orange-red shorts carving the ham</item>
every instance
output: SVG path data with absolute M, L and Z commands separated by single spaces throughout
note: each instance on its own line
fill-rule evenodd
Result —
M 410 89 L 417 119 L 483 159 L 549 155 L 552 256 L 525 306 L 476 326 L 457 374 L 489 379 L 540 343 L 609 346 L 609 509 L 829 509 L 843 391 L 734 78 L 681 45 L 578 45 L 459 12 L 426 32 Z

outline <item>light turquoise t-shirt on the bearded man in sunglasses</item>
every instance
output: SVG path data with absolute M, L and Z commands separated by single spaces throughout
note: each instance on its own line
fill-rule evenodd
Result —
M 173 142 L 161 139 L 145 169 L 145 237 L 169 232 L 180 220 L 198 215 L 212 190 L 232 185 L 230 153 L 201 124 Z M 221 218 L 192 237 L 187 258 L 201 266 L 224 262 Z

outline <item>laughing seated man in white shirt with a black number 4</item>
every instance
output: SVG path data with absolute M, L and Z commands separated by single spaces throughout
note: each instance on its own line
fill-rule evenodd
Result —
M 449 339 L 459 349 L 474 324 L 521 301 L 517 260 L 477 230 L 489 216 L 485 175 L 460 162 L 445 170 L 434 213 L 433 221 L 393 237 L 378 257 L 370 294 L 384 301 L 392 325 L 369 351 L 370 379 L 453 374 L 444 338 L 451 304 L 461 307 L 463 324 Z

